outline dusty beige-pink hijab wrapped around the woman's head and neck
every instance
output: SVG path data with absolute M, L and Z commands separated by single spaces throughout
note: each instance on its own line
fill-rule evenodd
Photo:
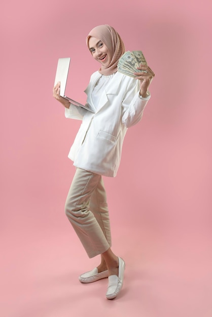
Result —
M 125 52 L 124 43 L 120 35 L 112 26 L 108 24 L 98 25 L 94 27 L 86 37 L 86 43 L 88 48 L 88 41 L 91 36 L 100 39 L 100 41 L 104 43 L 104 45 L 108 48 L 111 57 L 111 61 L 108 66 L 101 65 L 101 68 L 99 69 L 100 74 L 113 74 L 117 71 L 117 64 L 119 58 Z

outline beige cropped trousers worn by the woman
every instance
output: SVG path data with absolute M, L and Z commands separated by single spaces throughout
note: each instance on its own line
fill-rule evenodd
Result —
M 101 175 L 76 169 L 67 194 L 65 214 L 89 258 L 111 247 L 111 229 Z

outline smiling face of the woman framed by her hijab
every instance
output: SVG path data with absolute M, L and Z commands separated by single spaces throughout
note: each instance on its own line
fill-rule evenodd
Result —
M 90 37 L 88 40 L 88 47 L 93 55 L 93 58 L 104 66 L 108 66 L 111 61 L 108 48 L 96 37 Z

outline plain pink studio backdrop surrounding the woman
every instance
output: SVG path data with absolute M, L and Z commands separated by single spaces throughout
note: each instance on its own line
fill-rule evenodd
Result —
M 212 315 L 211 1 L 8 0 L 1 6 L 1 315 Z M 59 57 L 68 95 L 99 65 L 85 44 L 110 24 L 155 71 L 143 120 L 129 129 L 116 178 L 104 178 L 122 293 L 81 285 L 89 260 L 64 215 L 80 122 L 52 98 Z

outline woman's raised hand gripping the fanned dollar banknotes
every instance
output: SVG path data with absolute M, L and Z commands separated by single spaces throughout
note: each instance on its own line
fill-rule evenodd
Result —
M 149 66 L 143 64 L 140 64 L 140 67 L 137 67 L 137 69 L 140 71 L 134 72 L 134 75 L 136 75 L 136 79 L 140 81 L 140 95 L 145 98 L 147 97 L 147 91 L 150 87 L 153 77 L 155 76 L 155 73 Z

